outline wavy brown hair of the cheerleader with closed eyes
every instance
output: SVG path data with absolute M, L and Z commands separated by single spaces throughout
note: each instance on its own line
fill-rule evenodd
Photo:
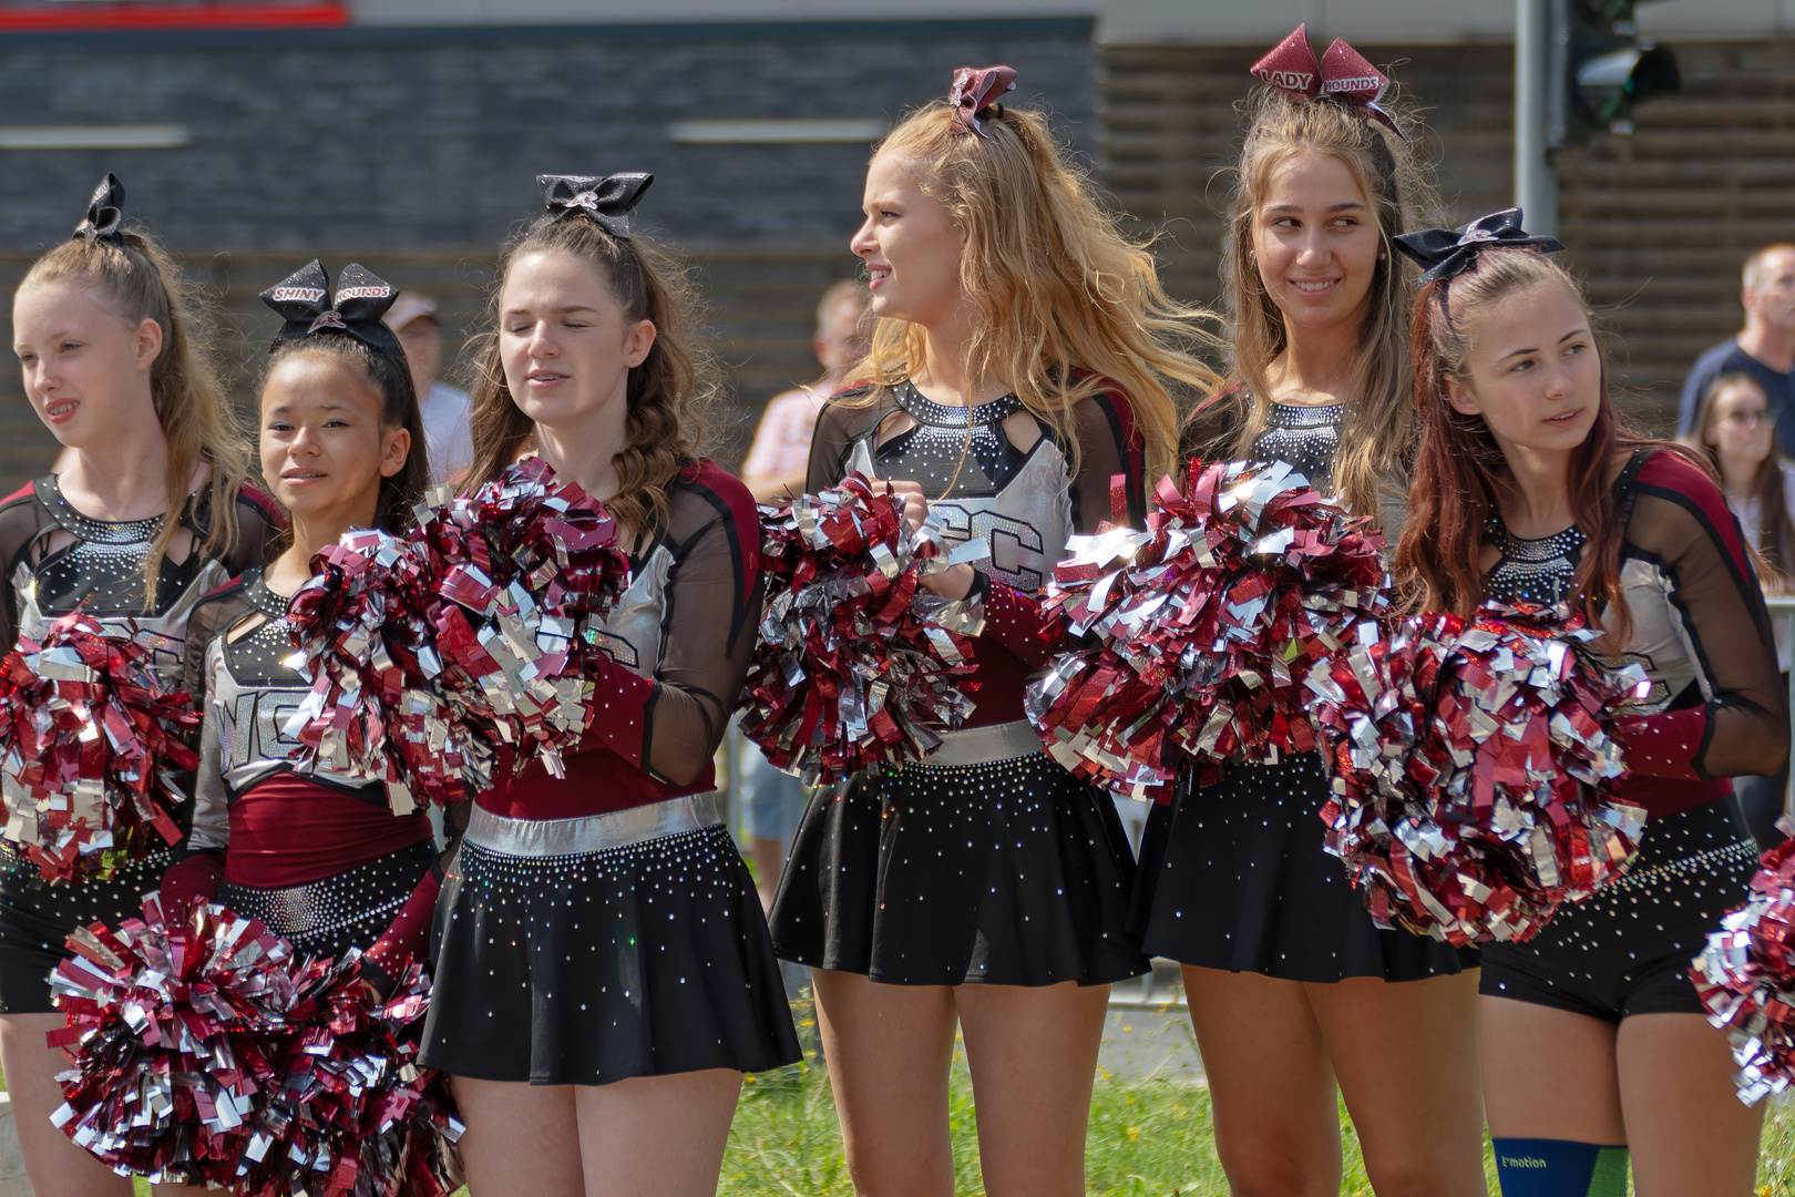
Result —
M 686 267 L 655 248 L 643 233 L 612 237 L 583 217 L 538 221 L 499 258 L 492 287 L 494 330 L 481 334 L 474 363 L 468 425 L 474 465 L 463 483 L 472 492 L 517 461 L 535 438 L 535 422 L 522 413 L 504 382 L 499 355 L 499 301 L 512 266 L 530 253 L 569 253 L 603 275 L 626 321 L 646 319 L 655 341 L 643 364 L 630 368 L 628 445 L 612 458 L 617 494 L 605 508 L 634 533 L 646 533 L 664 515 L 673 477 L 698 458 L 705 436 L 705 409 L 718 389 L 718 371 L 691 330 L 698 307 Z

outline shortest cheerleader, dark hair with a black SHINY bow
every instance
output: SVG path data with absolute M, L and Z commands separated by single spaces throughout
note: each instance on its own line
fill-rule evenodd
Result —
M 382 782 L 323 765 L 296 773 L 298 741 L 284 727 L 311 691 L 285 664 L 285 616 L 312 556 L 350 528 L 404 535 L 429 483 L 411 371 L 381 323 L 397 294 L 350 266 L 332 303 L 318 262 L 262 293 L 287 318 L 262 382 L 262 477 L 293 533 L 266 569 L 208 594 L 188 621 L 187 687 L 205 695 L 199 777 L 194 827 L 162 885 L 163 899 L 217 901 L 318 957 L 375 948 L 418 892 L 413 917 L 364 958 L 386 974 L 424 949 L 436 899 L 429 817 L 395 815 Z

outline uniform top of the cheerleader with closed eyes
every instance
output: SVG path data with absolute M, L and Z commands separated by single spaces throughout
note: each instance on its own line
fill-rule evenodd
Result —
M 477 797 L 506 818 L 576 818 L 714 788 L 711 763 L 761 619 L 759 519 L 732 474 L 696 461 L 668 488 L 662 526 L 632 553 L 630 589 L 587 633 L 596 678 L 564 777 L 540 761 Z

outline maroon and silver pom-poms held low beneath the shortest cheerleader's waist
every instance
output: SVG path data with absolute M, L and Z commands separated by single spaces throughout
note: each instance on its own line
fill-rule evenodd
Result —
M 442 1077 L 415 1064 L 420 965 L 381 1001 L 359 951 L 300 958 L 255 919 L 192 903 L 171 921 L 156 896 L 68 946 L 50 1041 L 75 1066 L 54 1122 L 115 1172 L 269 1197 L 458 1184 L 461 1125 Z

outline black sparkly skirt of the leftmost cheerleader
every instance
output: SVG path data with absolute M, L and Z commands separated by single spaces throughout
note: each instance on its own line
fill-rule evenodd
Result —
M 52 1014 L 50 973 L 70 957 L 77 926 L 144 915 L 144 896 L 162 888 L 174 854 L 156 851 L 99 881 L 45 881 L 38 865 L 0 845 L 0 1014 Z

